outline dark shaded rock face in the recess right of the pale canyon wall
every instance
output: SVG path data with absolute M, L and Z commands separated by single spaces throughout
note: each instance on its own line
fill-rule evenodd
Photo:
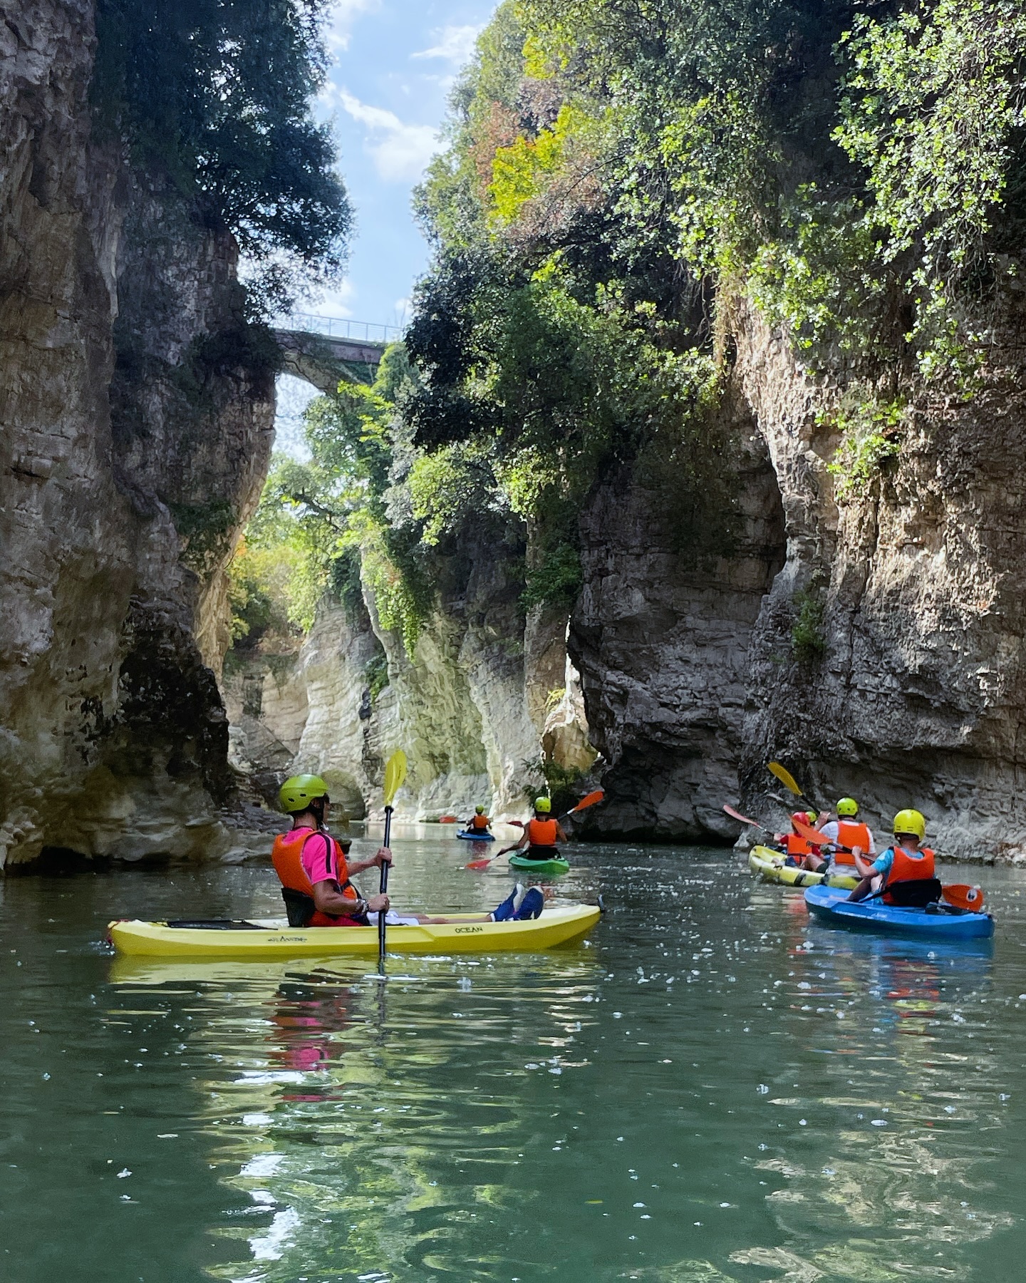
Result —
M 595 833 L 725 840 L 737 797 L 749 649 L 784 561 L 773 470 L 750 422 L 737 450 L 743 523 L 730 557 L 696 565 L 662 491 L 608 482 L 582 520 L 585 585 L 569 649 L 607 801 Z

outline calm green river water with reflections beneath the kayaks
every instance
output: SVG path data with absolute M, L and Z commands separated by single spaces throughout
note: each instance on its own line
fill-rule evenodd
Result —
M 394 845 L 408 907 L 508 887 L 451 838 Z M 972 952 L 811 926 L 731 852 L 573 858 L 559 896 L 609 908 L 587 947 L 385 985 L 99 943 L 277 912 L 265 870 L 9 879 L 0 1278 L 1022 1277 L 1026 879 L 984 871 Z

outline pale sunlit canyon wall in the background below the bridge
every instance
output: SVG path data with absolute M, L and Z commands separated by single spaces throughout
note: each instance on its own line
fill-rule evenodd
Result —
M 385 762 L 403 748 L 401 817 L 466 819 L 476 804 L 526 816 L 544 788 L 544 742 L 569 767 L 594 753 L 572 667 L 567 679 L 566 611 L 525 620 L 522 554 L 500 526 L 482 522 L 458 554 L 439 556 L 439 597 L 413 658 L 382 627 L 368 585 L 355 607 L 322 602 L 295 663 L 276 672 L 253 657 L 228 676 L 235 765 L 268 802 L 286 770 L 322 775 L 332 798 L 363 819 L 381 812 Z M 382 665 L 387 684 L 376 689 Z M 259 688 L 249 712 L 246 684 Z

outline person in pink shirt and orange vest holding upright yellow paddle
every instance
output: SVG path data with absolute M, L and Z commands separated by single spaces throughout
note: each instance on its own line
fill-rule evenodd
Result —
M 387 896 L 364 898 L 349 879 L 350 874 L 391 863 L 392 853 L 387 847 L 380 847 L 372 860 L 359 860 L 351 865 L 348 862 L 351 840 L 340 840 L 324 828 L 331 799 L 328 786 L 321 776 L 294 775 L 282 784 L 278 801 L 282 811 L 291 816 L 292 828 L 274 839 L 271 858 L 281 879 L 291 926 L 373 926 L 382 911 L 387 915 L 385 921 L 390 926 L 451 921 L 501 922 L 510 917 L 537 917 L 541 912 L 541 893 L 536 889 L 525 893 L 522 887 L 516 887 L 492 913 L 475 919 L 389 912 Z

